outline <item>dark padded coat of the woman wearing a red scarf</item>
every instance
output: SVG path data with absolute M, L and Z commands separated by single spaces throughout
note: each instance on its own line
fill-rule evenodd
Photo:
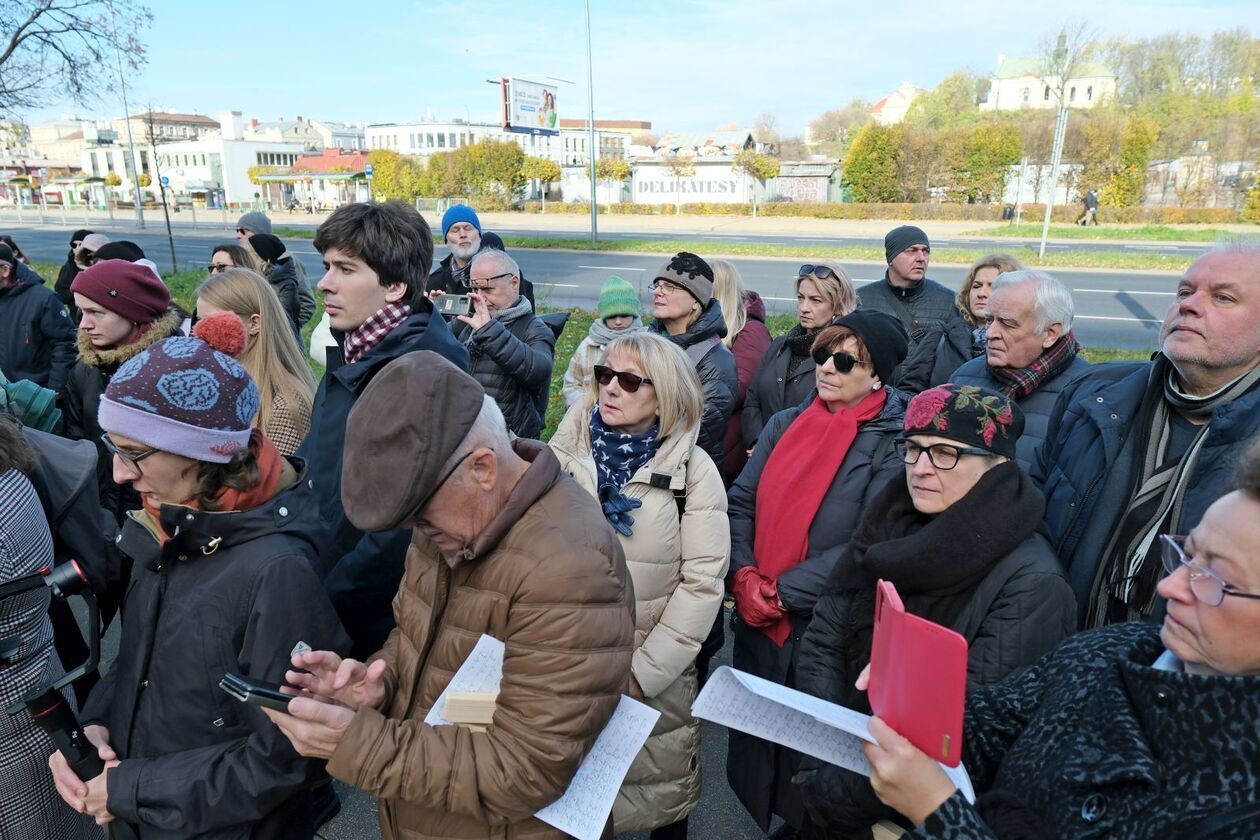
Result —
M 848 455 L 823 497 L 823 504 L 809 526 L 809 549 L 805 559 L 779 576 L 779 597 L 791 615 L 791 635 L 782 647 L 776 646 L 760 630 L 748 627 L 732 616 L 735 626 L 735 667 L 782 685 L 790 685 L 796 670 L 800 639 L 809 626 L 814 604 L 827 584 L 833 567 L 857 530 L 868 499 L 890 480 L 905 475 L 901 458 L 892 446 L 906 414 L 906 398 L 886 388 L 888 400 L 878 417 L 858 427 Z M 808 406 L 808 404 L 806 404 Z M 755 565 L 752 555 L 756 523 L 757 484 L 766 461 L 788 426 L 806 407 L 798 406 L 779 412 L 766 424 L 748 465 L 740 474 L 728 494 L 731 518 L 731 572 Z M 759 738 L 730 733 L 727 780 L 740 801 L 764 831 L 769 831 L 774 814 L 793 825 L 800 825 L 804 811 L 800 792 L 791 785 L 798 753 Z

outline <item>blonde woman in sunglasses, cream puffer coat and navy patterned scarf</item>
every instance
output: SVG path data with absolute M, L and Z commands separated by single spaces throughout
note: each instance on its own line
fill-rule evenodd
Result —
M 687 836 L 699 802 L 696 655 L 722 606 L 726 491 L 698 443 L 703 397 L 687 354 L 635 332 L 609 343 L 551 447 L 600 500 L 634 581 L 630 694 L 660 712 L 612 809 L 616 831 Z

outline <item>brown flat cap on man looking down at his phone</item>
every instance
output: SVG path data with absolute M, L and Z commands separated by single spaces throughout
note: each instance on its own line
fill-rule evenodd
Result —
M 485 389 L 432 350 L 394 359 L 345 422 L 341 505 L 355 528 L 397 528 L 437 490 L 481 413 Z

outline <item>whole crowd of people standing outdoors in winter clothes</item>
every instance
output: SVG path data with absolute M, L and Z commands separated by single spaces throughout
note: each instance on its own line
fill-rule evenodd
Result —
M 878 718 L 869 777 L 732 730 L 762 831 L 1260 831 L 1260 247 L 1191 264 L 1149 361 L 1095 365 L 1062 282 L 992 254 L 954 292 L 915 225 L 861 288 L 801 264 L 777 338 L 680 252 L 648 301 L 605 278 L 558 370 L 501 239 L 466 205 L 441 239 L 435 266 L 413 208 L 350 204 L 307 281 L 247 213 L 190 311 L 135 243 L 74 232 L 49 287 L 0 242 L 0 583 L 73 558 L 121 625 L 64 691 L 105 771 L 5 715 L 3 836 L 311 837 L 334 778 L 387 837 L 559 836 L 534 815 L 625 694 L 660 717 L 607 831 L 685 837 L 726 632 L 736 669 L 869 713 L 878 581 L 968 641 L 979 796 Z M 484 633 L 493 723 L 425 723 Z M 0 650 L 9 705 L 83 644 L 40 589 L 0 599 Z

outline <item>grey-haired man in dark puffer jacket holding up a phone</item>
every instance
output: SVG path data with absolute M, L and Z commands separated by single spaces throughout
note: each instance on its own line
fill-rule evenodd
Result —
M 455 330 L 469 349 L 469 372 L 499 403 L 514 434 L 537 438 L 546 422 L 556 335 L 520 293 L 520 268 L 507 253 L 478 252 L 469 286 L 472 311 L 456 319 L 461 326 Z

